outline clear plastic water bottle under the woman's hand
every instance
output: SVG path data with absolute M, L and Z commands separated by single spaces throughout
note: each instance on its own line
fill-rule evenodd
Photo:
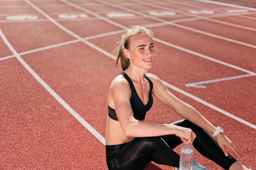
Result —
M 192 170 L 193 166 L 193 145 L 181 144 L 180 148 L 180 170 Z

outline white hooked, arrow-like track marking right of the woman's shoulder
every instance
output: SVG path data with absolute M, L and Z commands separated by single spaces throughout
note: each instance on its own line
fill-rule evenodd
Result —
M 240 78 L 243 78 L 243 77 L 250 77 L 250 76 L 254 76 L 254 75 L 253 74 L 238 75 L 238 76 L 234 76 L 234 77 L 226 77 L 226 78 L 220 78 L 220 79 L 207 80 L 207 81 L 203 81 L 203 82 L 189 83 L 189 84 L 185 84 L 185 86 L 187 86 L 187 87 L 196 87 L 196 88 L 206 88 L 206 86 L 202 86 L 200 84 L 221 82 L 221 81 L 226 81 L 226 80 L 231 80 L 231 79 L 240 79 Z

